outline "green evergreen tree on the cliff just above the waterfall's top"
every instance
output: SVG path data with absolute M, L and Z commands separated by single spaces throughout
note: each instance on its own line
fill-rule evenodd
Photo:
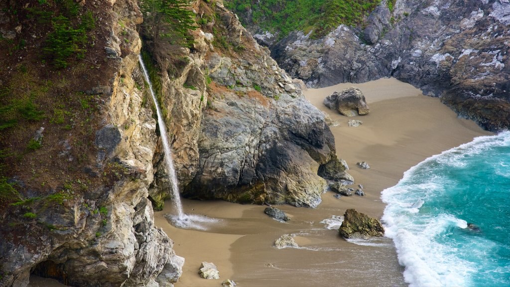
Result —
M 170 39 L 173 44 L 192 44 L 189 30 L 196 29 L 196 26 L 189 0 L 143 0 L 140 6 L 144 16 L 143 27 L 155 45 L 162 38 Z

